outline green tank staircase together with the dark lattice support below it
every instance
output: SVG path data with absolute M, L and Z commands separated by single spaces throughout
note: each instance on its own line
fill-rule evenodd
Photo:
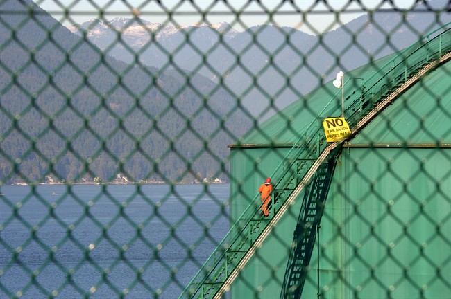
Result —
M 400 93 L 414 84 L 421 75 L 451 59 L 450 26 L 451 23 L 446 24 L 402 51 L 364 82 L 364 92 L 351 94 L 347 99 L 347 102 L 351 104 L 346 107 L 345 112 L 346 120 L 352 129 L 350 138 L 390 105 Z M 319 115 L 329 113 L 329 111 L 325 111 L 330 109 L 332 101 L 334 98 Z M 321 220 L 323 203 L 320 204 L 318 199 L 315 199 L 316 194 L 322 198 L 322 201 L 325 201 L 330 185 L 327 176 L 332 176 L 330 161 L 334 161 L 333 157 L 338 154 L 337 151 L 341 148 L 342 142 L 326 143 L 323 129 L 318 125 L 318 119 L 313 120 L 271 175 L 275 182 L 273 199 L 271 199 L 271 217 L 262 218 L 259 215 L 259 208 L 256 208 L 255 204 L 250 204 L 179 298 L 221 298 L 239 271 L 253 256 L 256 248 L 262 245 L 263 240 L 271 233 L 272 228 L 278 223 L 284 212 L 291 206 L 298 194 L 307 188 L 315 175 L 316 183 L 320 183 L 322 186 L 311 187 L 313 190 L 305 192 L 309 196 L 304 198 L 305 212 L 302 215 L 303 219 L 298 221 L 298 226 L 305 227 L 305 224 L 310 222 L 317 224 Z M 325 164 L 327 167 L 321 166 L 323 163 L 327 163 Z M 334 167 L 334 163 L 332 164 Z M 327 174 L 325 173 L 326 169 Z M 255 201 L 259 200 L 257 197 L 258 194 L 255 196 Z M 296 232 L 298 234 L 296 245 L 299 249 L 297 255 L 291 259 L 292 270 L 287 274 L 287 282 L 284 285 L 285 288 L 296 286 L 293 290 L 299 289 L 296 291 L 299 296 L 305 282 L 303 267 L 309 264 L 314 246 L 313 229 L 312 226 L 307 230 L 300 229 Z M 302 230 L 308 231 L 308 233 L 303 233 Z M 302 241 L 300 241 L 301 239 Z M 294 296 L 294 291 L 291 292 L 293 295 L 290 292 L 285 293 L 287 298 L 299 298 Z

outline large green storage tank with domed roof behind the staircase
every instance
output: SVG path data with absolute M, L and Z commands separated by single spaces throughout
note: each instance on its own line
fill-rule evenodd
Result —
M 393 56 L 346 74 L 359 93 Z M 360 80 L 358 78 L 362 78 Z M 232 222 L 309 124 L 341 114 L 332 82 L 230 146 Z M 348 105 L 348 104 L 346 104 Z M 346 116 L 346 115 L 345 115 Z M 451 298 L 451 62 L 423 75 L 343 144 L 300 298 Z M 303 192 L 230 286 L 281 296 Z

